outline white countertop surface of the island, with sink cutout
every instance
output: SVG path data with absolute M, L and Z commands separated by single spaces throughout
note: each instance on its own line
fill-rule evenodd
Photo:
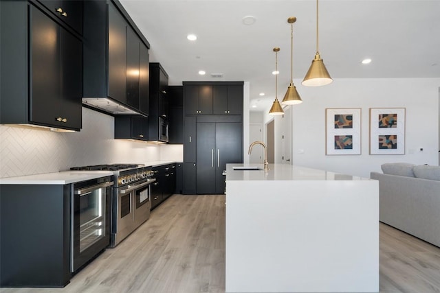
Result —
M 261 170 L 234 170 L 233 167 L 259 167 Z M 269 164 L 269 170 L 263 168 L 263 164 L 227 164 L 226 180 L 370 180 L 287 164 Z

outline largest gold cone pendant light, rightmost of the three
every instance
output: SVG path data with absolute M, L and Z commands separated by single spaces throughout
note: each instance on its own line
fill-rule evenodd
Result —
M 303 86 L 325 86 L 333 82 L 319 54 L 318 24 L 318 0 L 316 0 L 316 55 L 315 59 L 311 61 L 303 82 L 301 82 Z

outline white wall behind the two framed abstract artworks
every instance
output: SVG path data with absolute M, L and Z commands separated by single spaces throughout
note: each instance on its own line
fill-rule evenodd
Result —
M 369 178 L 382 163 L 439 164 L 440 78 L 338 79 L 314 88 L 294 82 L 303 99 L 292 112 L 294 165 Z M 325 155 L 326 108 L 362 108 L 362 154 Z M 406 108 L 406 154 L 369 155 L 369 108 Z

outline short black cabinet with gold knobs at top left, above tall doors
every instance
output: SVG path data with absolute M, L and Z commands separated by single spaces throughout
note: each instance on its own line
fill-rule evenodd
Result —
M 39 0 L 58 19 L 83 34 L 83 1 Z

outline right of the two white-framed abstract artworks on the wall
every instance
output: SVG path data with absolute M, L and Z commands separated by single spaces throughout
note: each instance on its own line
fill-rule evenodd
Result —
M 405 108 L 370 108 L 370 154 L 405 154 Z

